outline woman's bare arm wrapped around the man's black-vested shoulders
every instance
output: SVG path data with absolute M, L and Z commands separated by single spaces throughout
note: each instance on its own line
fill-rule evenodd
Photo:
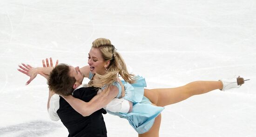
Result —
M 74 98 L 71 95 L 63 98 L 65 98 L 65 100 L 74 108 L 75 111 L 85 117 L 105 107 L 113 98 L 117 96 L 119 90 L 116 86 L 111 85 L 109 91 L 107 93 L 105 92 L 106 91 L 103 91 L 97 94 L 89 102 L 84 102 L 83 100 Z

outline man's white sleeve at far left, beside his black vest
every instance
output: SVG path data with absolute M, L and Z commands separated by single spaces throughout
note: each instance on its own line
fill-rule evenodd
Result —
M 58 94 L 54 94 L 50 98 L 48 114 L 51 120 L 58 121 L 60 117 L 57 114 L 58 109 L 60 108 L 60 96 Z

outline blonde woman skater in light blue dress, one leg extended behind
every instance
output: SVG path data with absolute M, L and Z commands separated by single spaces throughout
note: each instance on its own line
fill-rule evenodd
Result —
M 193 95 L 207 93 L 216 89 L 222 91 L 239 87 L 243 84 L 243 78 L 221 79 L 220 81 L 195 81 L 177 88 L 167 89 L 144 89 L 146 82 L 144 78 L 129 74 L 124 60 L 116 52 L 108 39 L 100 38 L 93 42 L 93 46 L 88 54 L 88 65 L 82 67 L 80 71 L 91 81 L 89 85 L 101 87 L 105 97 L 125 98 L 133 102 L 133 111 L 129 114 L 111 113 L 128 119 L 132 127 L 138 132 L 139 137 L 158 137 L 161 123 L 160 112 L 168 104 L 174 104 L 185 100 Z M 124 80 L 120 80 L 118 76 Z M 33 80 L 33 79 L 32 79 Z M 28 81 L 29 83 L 30 81 Z M 111 90 L 111 92 L 110 92 Z M 115 91 L 115 92 L 112 92 Z M 116 93 L 113 95 L 113 93 Z M 64 97 L 67 102 L 83 116 L 87 116 L 88 103 L 73 96 Z M 104 99 L 104 98 L 103 98 Z M 108 104 L 108 103 L 106 103 Z M 106 105 L 105 104 L 105 105 Z M 152 105 L 151 105 L 152 104 Z M 97 104 L 94 104 L 95 107 Z M 147 106 L 153 113 L 148 114 Z M 153 107 L 153 105 L 160 107 Z M 147 114 L 145 114 L 147 113 Z

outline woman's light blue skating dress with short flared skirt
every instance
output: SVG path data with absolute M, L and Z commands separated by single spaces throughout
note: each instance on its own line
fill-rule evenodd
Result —
M 89 79 L 92 79 L 94 74 L 90 72 Z M 119 112 L 107 111 L 109 114 L 125 118 L 129 121 L 129 124 L 138 132 L 138 134 L 143 134 L 150 130 L 155 122 L 155 117 L 157 117 L 162 111 L 163 107 L 158 107 L 152 105 L 148 98 L 144 96 L 144 87 L 146 87 L 145 78 L 141 76 L 136 76 L 136 82 L 134 84 L 129 84 L 121 80 L 125 89 L 126 100 L 133 102 L 133 110 L 130 113 L 124 114 Z M 121 85 L 118 82 L 114 82 L 119 89 L 119 93 L 116 98 L 121 97 Z

